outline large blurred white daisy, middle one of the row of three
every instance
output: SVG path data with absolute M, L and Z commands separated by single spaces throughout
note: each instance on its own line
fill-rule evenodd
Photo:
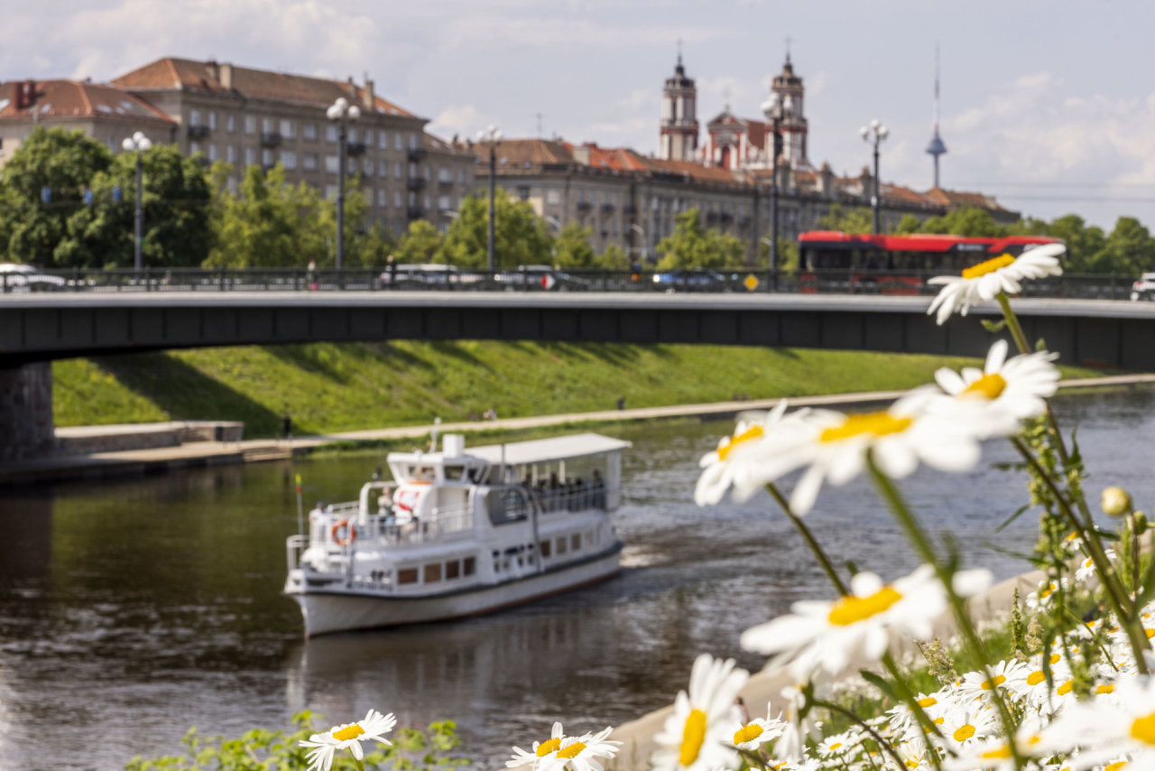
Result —
M 795 513 L 813 507 L 824 480 L 841 485 L 857 476 L 867 451 L 892 479 L 907 476 L 919 461 L 948 472 L 978 462 L 978 438 L 970 421 L 927 414 L 922 409 L 925 403 L 923 394 L 911 393 L 881 413 L 814 409 L 791 421 L 789 430 L 777 431 L 767 443 L 777 462 L 772 470 L 784 474 L 808 466 L 790 496 Z

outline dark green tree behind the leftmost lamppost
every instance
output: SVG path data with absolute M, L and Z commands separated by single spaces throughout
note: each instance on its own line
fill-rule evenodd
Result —
M 155 144 L 141 157 L 143 209 L 141 260 L 146 266 L 194 267 L 213 244 L 213 187 L 198 158 L 172 144 Z M 57 249 L 61 266 L 132 267 L 136 209 L 136 154 L 118 156 L 92 178 L 91 205 L 68 220 Z M 116 191 L 120 200 L 116 200 Z

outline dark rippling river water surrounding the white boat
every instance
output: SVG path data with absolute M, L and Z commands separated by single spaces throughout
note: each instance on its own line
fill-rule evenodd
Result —
M 1057 412 L 1094 479 L 1155 502 L 1147 448 L 1155 391 L 1063 396 Z M 761 660 L 738 635 L 827 598 L 826 579 L 766 496 L 693 504 L 698 459 L 730 423 L 631 425 L 616 526 L 626 570 L 605 584 L 460 623 L 305 642 L 280 595 L 296 532 L 293 474 L 306 507 L 357 495 L 382 458 L 189 470 L 99 484 L 0 492 L 0 769 L 120 769 L 202 735 L 288 727 L 301 709 L 334 722 L 370 707 L 402 726 L 453 718 L 461 754 L 501 765 L 511 744 L 624 722 L 685 688 L 694 657 Z M 902 482 L 939 536 L 999 578 L 1028 565 L 1028 514 L 1012 460 L 990 443 L 969 474 L 921 469 Z M 886 577 L 915 561 L 863 480 L 824 489 L 807 521 L 839 562 Z

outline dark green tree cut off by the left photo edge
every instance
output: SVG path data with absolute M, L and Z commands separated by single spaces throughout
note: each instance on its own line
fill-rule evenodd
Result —
M 113 155 L 83 132 L 36 128 L 0 170 L 0 251 L 15 262 L 69 265 L 58 258 L 74 236 L 68 221 L 84 206 L 84 191 L 112 166 Z M 49 201 L 42 191 L 49 191 Z M 65 244 L 64 253 L 72 253 Z

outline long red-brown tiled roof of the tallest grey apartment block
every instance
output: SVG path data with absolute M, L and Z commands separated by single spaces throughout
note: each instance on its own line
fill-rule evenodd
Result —
M 221 82 L 222 72 L 226 67 L 232 68 L 231 88 L 225 88 Z M 173 57 L 157 59 L 139 69 L 121 75 L 112 82 L 120 88 L 135 91 L 179 89 L 217 91 L 222 94 L 233 92 L 249 98 L 314 104 L 316 106 L 328 106 L 337 97 L 343 96 L 346 99 L 356 101 L 358 104 L 363 103 L 363 87 L 344 81 L 277 73 L 268 69 L 253 69 L 252 67 L 238 67 L 216 61 L 177 59 Z M 410 118 L 416 117 L 408 110 L 403 110 L 396 104 L 382 99 L 380 96 L 374 95 L 373 102 L 377 105 L 378 112 Z

